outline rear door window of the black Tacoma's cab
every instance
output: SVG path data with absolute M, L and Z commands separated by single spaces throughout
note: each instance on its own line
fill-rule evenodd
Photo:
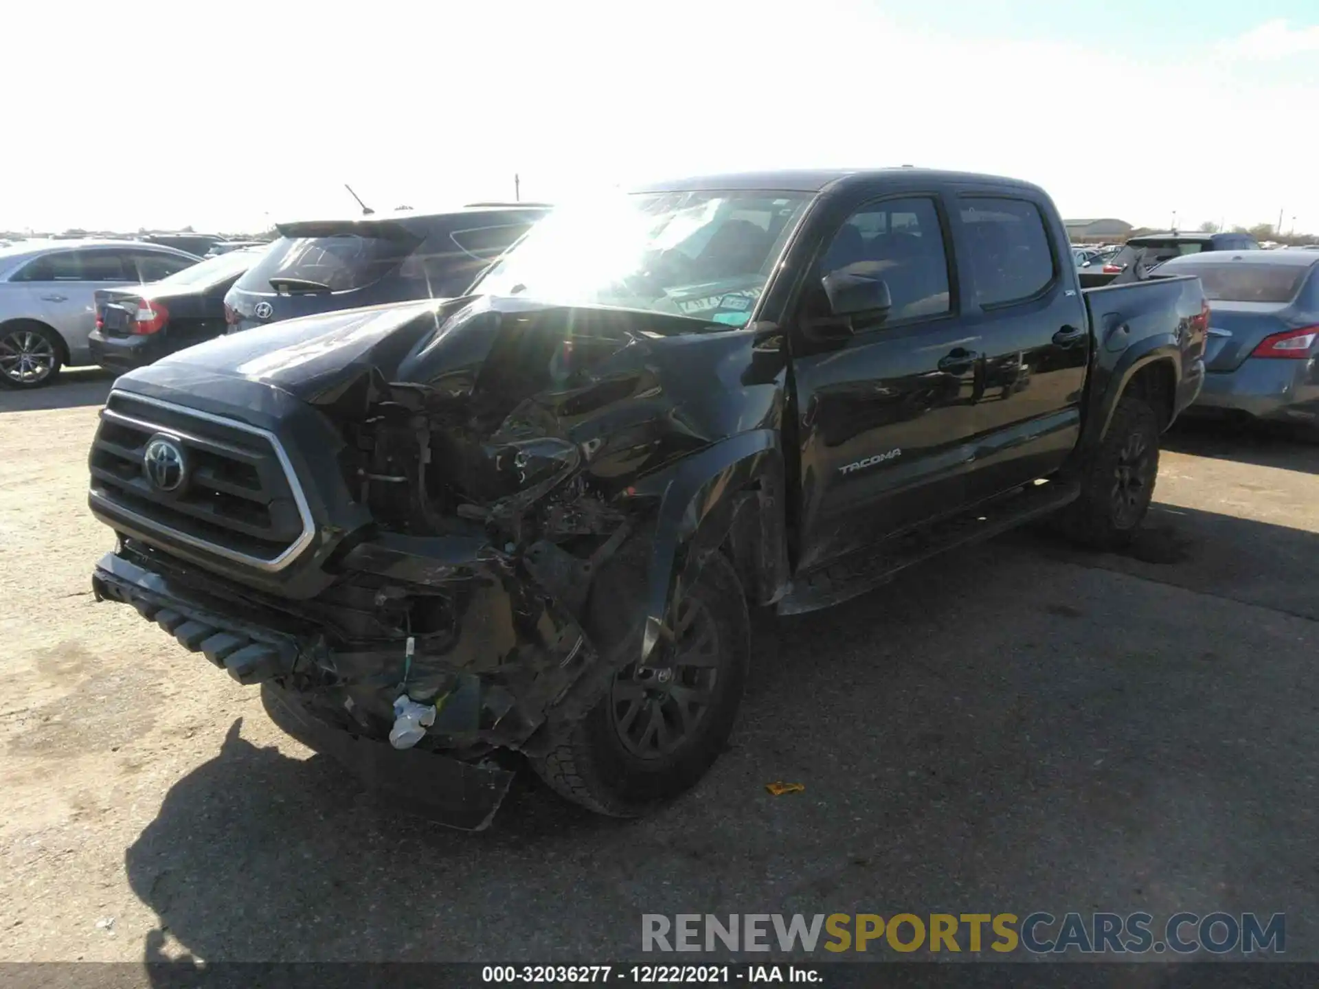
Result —
M 1029 299 L 1054 281 L 1054 252 L 1034 203 L 963 196 L 962 224 L 981 306 Z

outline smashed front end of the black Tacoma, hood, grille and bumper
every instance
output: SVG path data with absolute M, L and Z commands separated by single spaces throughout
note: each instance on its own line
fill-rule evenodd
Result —
M 481 828 L 506 753 L 665 669 L 694 560 L 782 592 L 783 378 L 754 332 L 510 298 L 222 338 L 116 382 L 94 589 L 261 684 L 311 748 Z M 628 634 L 592 617 L 601 582 L 627 585 Z

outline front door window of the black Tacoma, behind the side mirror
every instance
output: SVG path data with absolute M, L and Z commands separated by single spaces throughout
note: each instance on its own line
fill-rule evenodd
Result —
M 881 199 L 848 216 L 820 258 L 820 277 L 845 270 L 885 281 L 889 322 L 948 313 L 948 256 L 934 199 Z

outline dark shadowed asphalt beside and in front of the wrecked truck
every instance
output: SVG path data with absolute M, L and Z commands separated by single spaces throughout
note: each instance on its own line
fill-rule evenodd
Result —
M 146 960 L 617 960 L 642 913 L 972 909 L 1286 911 L 1319 957 L 1319 626 L 1177 585 L 1215 541 L 1294 542 L 1312 583 L 1319 537 L 1177 510 L 1153 580 L 1025 534 L 766 622 L 732 748 L 641 822 L 520 778 L 452 832 L 235 723 L 127 851 Z

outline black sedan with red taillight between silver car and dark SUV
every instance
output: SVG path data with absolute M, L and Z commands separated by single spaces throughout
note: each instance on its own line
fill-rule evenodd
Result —
M 224 334 L 224 293 L 262 248 L 231 251 L 169 278 L 95 294 L 96 328 L 87 338 L 91 359 L 109 371 L 129 371 Z

